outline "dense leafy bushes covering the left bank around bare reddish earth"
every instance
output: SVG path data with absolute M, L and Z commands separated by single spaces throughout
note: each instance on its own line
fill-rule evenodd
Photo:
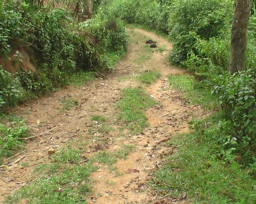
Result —
M 75 30 L 63 8 L 12 0 L 0 3 L 0 17 L 0 57 L 23 47 L 37 68 L 35 73 L 20 70 L 13 76 L 0 68 L 0 110 L 67 85 L 76 72 L 110 70 L 128 42 L 119 20 L 97 19 Z

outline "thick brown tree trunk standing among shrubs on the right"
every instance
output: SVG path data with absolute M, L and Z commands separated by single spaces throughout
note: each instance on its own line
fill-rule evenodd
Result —
M 250 17 L 251 0 L 236 0 L 236 9 L 231 30 L 231 74 L 245 70 L 246 34 Z

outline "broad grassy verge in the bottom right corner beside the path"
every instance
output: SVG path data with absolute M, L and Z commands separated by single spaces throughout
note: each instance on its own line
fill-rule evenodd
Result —
M 155 172 L 153 186 L 159 193 L 180 196 L 185 192 L 189 203 L 195 204 L 255 203 L 256 168 L 244 168 L 221 146 L 226 135 L 219 121 L 219 117 L 201 121 L 204 128 L 170 140 L 169 144 L 179 147 L 168 164 Z

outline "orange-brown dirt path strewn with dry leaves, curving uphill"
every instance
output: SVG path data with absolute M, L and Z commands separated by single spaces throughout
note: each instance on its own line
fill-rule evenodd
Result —
M 128 28 L 128 32 L 131 36 L 128 54 L 116 65 L 116 70 L 108 76 L 109 79 L 97 79 L 78 88 L 68 87 L 17 108 L 17 114 L 24 117 L 33 135 L 55 129 L 29 140 L 24 148 L 26 152 L 12 161 L 24 158 L 7 170 L 0 171 L 0 203 L 6 195 L 35 179 L 32 172 L 40 164 L 49 162 L 49 150 L 55 151 L 69 142 L 82 149 L 86 158 L 101 150 L 113 152 L 123 144 L 135 147 L 127 159 L 118 159 L 113 164 L 114 170 L 108 165 L 96 163 L 98 170 L 90 176 L 93 192 L 88 196 L 87 203 L 151 204 L 160 199 L 148 188 L 147 182 L 151 179 L 152 172 L 165 162 L 165 156 L 172 154 L 175 148 L 164 146 L 161 139 L 188 132 L 191 117 L 201 117 L 204 113 L 200 106 L 188 105 L 180 93 L 169 87 L 168 75 L 186 74 L 186 71 L 169 66 L 168 51 L 161 53 L 154 50 L 145 53 L 145 40 L 148 39 L 157 40 L 158 47 L 170 49 L 172 45 L 166 39 L 142 29 Z M 121 122 L 116 122 L 119 111 L 116 102 L 120 99 L 123 88 L 140 85 L 133 79 L 134 75 L 154 69 L 160 71 L 161 77 L 144 88 L 160 105 L 146 112 L 149 127 L 140 134 L 129 134 L 128 130 L 122 130 Z M 76 99 L 79 105 L 68 111 L 61 111 L 63 99 Z M 105 133 L 94 130 L 91 125 L 93 115 L 105 116 L 107 125 L 112 129 Z M 88 129 L 91 130 L 89 134 Z M 177 201 L 165 199 L 165 203 Z

